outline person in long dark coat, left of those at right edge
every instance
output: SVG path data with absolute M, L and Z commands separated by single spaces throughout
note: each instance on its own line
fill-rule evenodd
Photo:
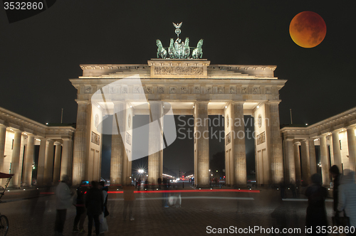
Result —
M 313 227 L 311 235 L 317 234 L 317 226 L 328 227 L 328 220 L 326 218 L 325 198 L 328 196 L 326 188 L 321 186 L 322 178 L 320 174 L 315 173 L 311 176 L 312 185 L 305 191 L 308 197 L 308 208 L 306 216 L 306 227 Z

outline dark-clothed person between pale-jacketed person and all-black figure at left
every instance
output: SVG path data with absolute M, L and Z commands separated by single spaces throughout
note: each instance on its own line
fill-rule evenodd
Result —
M 84 221 L 87 216 L 86 208 L 85 208 L 85 194 L 88 191 L 88 181 L 81 181 L 80 186 L 77 188 L 76 195 L 73 198 L 73 205 L 75 205 L 75 209 L 77 211 L 74 218 L 73 232 L 86 232 L 84 230 Z M 78 229 L 79 223 L 79 229 Z

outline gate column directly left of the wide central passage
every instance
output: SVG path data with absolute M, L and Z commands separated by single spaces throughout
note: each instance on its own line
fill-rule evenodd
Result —
M 162 102 L 150 101 L 150 124 L 148 140 L 148 181 L 150 184 L 157 185 L 158 178 L 162 178 L 161 160 L 163 142 L 163 104 Z

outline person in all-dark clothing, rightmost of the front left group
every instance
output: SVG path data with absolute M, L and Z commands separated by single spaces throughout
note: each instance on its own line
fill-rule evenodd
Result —
M 95 222 L 95 233 L 96 235 L 99 235 L 99 215 L 103 213 L 104 196 L 102 191 L 99 189 L 99 183 L 97 181 L 91 182 L 91 188 L 88 190 L 85 198 L 85 207 L 87 208 L 88 214 L 88 236 L 90 236 L 93 231 L 93 220 Z

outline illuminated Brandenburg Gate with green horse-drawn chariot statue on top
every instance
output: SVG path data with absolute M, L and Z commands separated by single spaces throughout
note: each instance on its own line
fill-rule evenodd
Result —
M 256 120 L 258 183 L 279 183 L 283 178 L 283 154 L 278 104 L 279 90 L 286 80 L 274 77 L 274 65 L 211 65 L 209 60 L 201 59 L 203 40 L 192 48 L 191 56 L 189 38 L 184 42 L 179 38 L 182 24 L 174 26 L 177 40 L 171 39 L 167 50 L 157 40 L 157 59 L 147 64 L 80 65 L 83 76 L 70 79 L 78 90 L 73 184 L 100 178 L 103 126 L 108 116 L 112 117 L 110 180 L 122 184 L 129 179 L 131 161 L 136 159 L 132 156 L 132 117 L 142 114 L 150 115 L 147 156 L 151 184 L 162 178 L 164 147 L 174 141 L 170 139 L 174 136 L 172 127 L 163 127 L 173 114 L 194 116 L 197 185 L 209 186 L 206 119 L 218 114 L 225 121 L 226 184 L 246 186 L 244 115 Z

